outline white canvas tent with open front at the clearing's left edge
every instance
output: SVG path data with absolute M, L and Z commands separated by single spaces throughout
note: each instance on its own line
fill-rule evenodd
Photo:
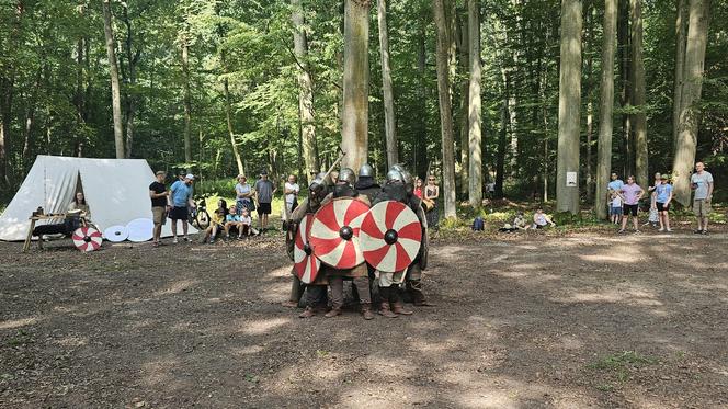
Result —
M 29 217 L 38 207 L 66 213 L 83 192 L 91 221 L 101 229 L 151 218 L 149 184 L 155 173 L 144 159 L 89 159 L 39 155 L 18 193 L 0 216 L 0 240 L 25 240 Z M 55 221 L 58 223 L 58 221 Z M 190 227 L 190 232 L 196 232 Z M 162 237 L 171 236 L 170 224 Z

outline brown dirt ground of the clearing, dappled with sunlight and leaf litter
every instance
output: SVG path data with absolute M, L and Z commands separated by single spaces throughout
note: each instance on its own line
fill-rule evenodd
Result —
M 2 408 L 728 407 L 728 234 L 434 240 L 436 307 L 281 306 L 282 238 L 0 243 Z

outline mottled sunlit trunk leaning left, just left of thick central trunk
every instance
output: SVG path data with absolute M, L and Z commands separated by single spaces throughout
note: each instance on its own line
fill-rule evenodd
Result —
M 316 145 L 316 124 L 314 122 L 314 84 L 308 65 L 308 42 L 305 31 L 304 9 L 300 0 L 292 0 L 294 53 L 298 60 L 298 111 L 302 123 L 302 147 L 306 164 L 307 180 L 311 180 L 321 167 Z

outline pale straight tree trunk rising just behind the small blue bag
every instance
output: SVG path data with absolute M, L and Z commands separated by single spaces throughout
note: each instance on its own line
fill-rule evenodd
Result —
M 481 156 L 481 110 L 480 110 L 480 8 L 478 0 L 468 0 L 468 32 L 470 49 L 470 89 L 468 90 L 468 139 L 470 151 L 469 198 L 470 206 L 480 207 L 482 203 L 482 156 Z

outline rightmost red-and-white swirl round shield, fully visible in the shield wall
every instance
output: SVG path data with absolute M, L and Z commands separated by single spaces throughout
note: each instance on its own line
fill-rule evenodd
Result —
M 359 237 L 366 262 L 395 273 L 407 269 L 420 251 L 422 225 L 407 205 L 379 202 L 364 217 Z

